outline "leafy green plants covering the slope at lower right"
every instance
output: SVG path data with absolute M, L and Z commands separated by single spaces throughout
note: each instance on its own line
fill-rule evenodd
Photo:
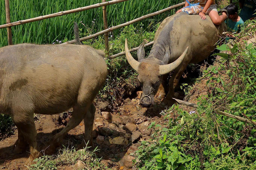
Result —
M 237 36 L 254 33 L 250 22 Z M 237 39 L 218 49 L 228 53 L 204 70 L 200 79 L 207 80 L 208 93 L 199 97 L 199 108 L 188 113 L 174 105 L 162 112 L 169 123 L 166 128 L 151 124 L 153 140 L 143 141 L 136 153 L 139 170 L 256 169 L 255 127 L 215 112 L 256 121 L 256 48 Z M 171 119 L 172 112 L 178 118 Z

